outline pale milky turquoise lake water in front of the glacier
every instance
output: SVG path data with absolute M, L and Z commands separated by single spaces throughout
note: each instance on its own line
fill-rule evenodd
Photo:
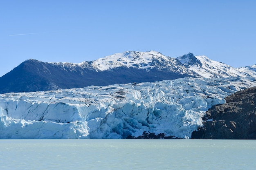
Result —
M 0 140 L 0 170 L 255 170 L 256 140 Z

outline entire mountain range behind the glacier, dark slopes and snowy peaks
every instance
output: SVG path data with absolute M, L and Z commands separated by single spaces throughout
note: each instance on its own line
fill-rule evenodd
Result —
M 192 53 L 172 58 L 155 51 L 126 51 L 79 64 L 26 60 L 0 77 L 0 93 L 155 82 L 183 77 L 256 77 L 255 68 L 256 65 L 233 68 Z

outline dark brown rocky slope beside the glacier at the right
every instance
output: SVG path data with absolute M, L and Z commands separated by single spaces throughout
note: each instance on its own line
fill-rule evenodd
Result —
M 256 87 L 225 100 L 206 112 L 204 126 L 192 133 L 193 139 L 256 139 Z

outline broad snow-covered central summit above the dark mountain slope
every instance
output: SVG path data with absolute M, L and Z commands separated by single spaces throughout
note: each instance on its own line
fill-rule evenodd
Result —
M 139 68 L 143 70 L 151 70 L 153 68 L 158 70 L 169 69 L 169 71 L 183 74 L 186 71 L 186 68 L 180 66 L 180 62 L 176 58 L 167 57 L 156 51 L 116 53 L 93 61 L 92 66 L 100 71 L 118 67 Z

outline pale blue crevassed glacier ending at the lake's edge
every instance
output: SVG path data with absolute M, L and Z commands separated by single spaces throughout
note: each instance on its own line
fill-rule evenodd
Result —
M 1 139 L 125 139 L 143 133 L 191 138 L 205 111 L 256 86 L 254 78 L 185 77 L 0 95 Z

